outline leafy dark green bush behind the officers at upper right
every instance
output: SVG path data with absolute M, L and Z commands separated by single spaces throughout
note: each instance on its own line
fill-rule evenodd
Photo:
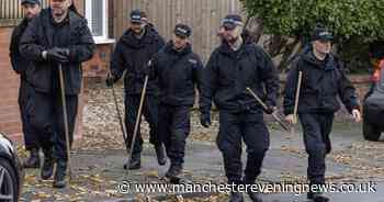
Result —
M 370 67 L 366 48 L 359 47 L 384 40 L 384 0 L 241 2 L 248 16 L 262 20 L 264 34 L 294 37 L 306 43 L 317 23 L 326 25 L 332 31 L 339 54 L 351 72 L 366 71 Z

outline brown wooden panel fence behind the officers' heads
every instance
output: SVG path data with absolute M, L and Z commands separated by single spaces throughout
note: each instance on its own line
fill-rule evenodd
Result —
M 189 24 L 192 30 L 193 49 L 205 61 L 214 47 L 221 20 L 228 13 L 240 13 L 238 0 L 114 0 L 113 29 L 116 40 L 129 26 L 129 12 L 142 9 L 166 40 L 172 36 L 177 23 Z

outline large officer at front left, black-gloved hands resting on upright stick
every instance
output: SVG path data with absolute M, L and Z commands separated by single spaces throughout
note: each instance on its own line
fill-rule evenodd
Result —
M 31 85 L 35 94 L 31 121 L 38 130 L 45 156 L 42 178 L 52 177 L 56 162 L 55 188 L 66 186 L 68 161 L 58 66 L 63 65 L 71 143 L 82 79 L 81 63 L 90 59 L 95 48 L 87 20 L 69 10 L 71 4 L 72 0 L 50 0 L 49 8 L 29 24 L 20 42 L 21 54 L 33 61 Z

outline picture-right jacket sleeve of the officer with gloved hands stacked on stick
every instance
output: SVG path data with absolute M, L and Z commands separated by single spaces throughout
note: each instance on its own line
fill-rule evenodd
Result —
M 78 32 L 78 44 L 69 46 L 69 61 L 74 63 L 82 63 L 91 59 L 95 49 L 93 36 L 86 20 L 83 20 Z

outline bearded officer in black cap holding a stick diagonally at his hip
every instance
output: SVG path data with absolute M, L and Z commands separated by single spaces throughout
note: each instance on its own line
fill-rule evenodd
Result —
M 269 131 L 263 122 L 263 110 L 247 93 L 251 88 L 268 104 L 272 113 L 279 91 L 278 71 L 271 58 L 249 38 L 242 37 L 240 15 L 229 14 L 219 32 L 222 45 L 216 48 L 203 70 L 201 87 L 201 124 L 211 125 L 212 99 L 219 111 L 217 146 L 224 158 L 229 184 L 253 184 L 261 172 L 262 161 L 270 145 Z M 266 90 L 264 90 L 266 89 Z M 245 176 L 241 165 L 241 145 L 247 145 Z M 231 202 L 242 201 L 242 193 L 234 190 Z M 261 201 L 258 193 L 248 190 L 252 201 Z

